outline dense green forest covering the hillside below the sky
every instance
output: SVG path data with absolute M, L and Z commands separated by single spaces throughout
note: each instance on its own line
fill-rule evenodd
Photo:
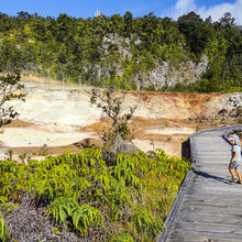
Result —
M 0 13 L 0 68 L 62 82 L 116 86 L 127 90 L 157 90 L 150 73 L 168 63 L 178 69 L 208 57 L 196 81 L 161 90 L 232 92 L 242 88 L 242 33 L 230 13 L 219 21 L 189 12 L 177 21 L 153 13 L 133 18 L 99 15 L 89 19 L 65 13 L 43 18 Z M 185 69 L 186 72 L 186 69 Z M 147 81 L 150 85 L 142 85 Z

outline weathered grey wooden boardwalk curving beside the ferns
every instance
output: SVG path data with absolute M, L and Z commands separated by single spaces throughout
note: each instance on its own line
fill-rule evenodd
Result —
M 242 129 L 242 127 L 237 127 Z M 190 136 L 194 170 L 180 188 L 157 242 L 242 242 L 242 185 L 229 184 L 232 128 Z

